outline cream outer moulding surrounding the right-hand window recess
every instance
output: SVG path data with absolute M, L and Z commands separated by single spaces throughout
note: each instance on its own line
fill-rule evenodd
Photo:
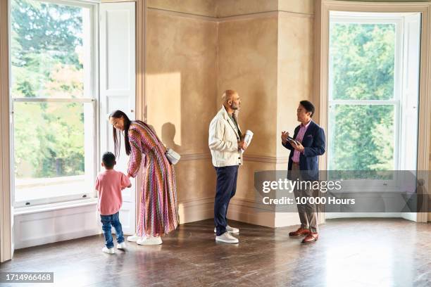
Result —
M 355 2 L 355 1 L 334 1 L 322 0 L 316 4 L 316 51 L 315 61 L 316 74 L 314 77 L 315 82 L 315 96 L 313 100 L 320 106 L 320 113 L 318 115 L 319 124 L 327 131 L 328 117 L 328 32 L 329 32 L 329 15 L 330 11 L 351 11 L 351 12 L 377 12 L 377 13 L 420 13 L 420 73 L 419 73 L 419 103 L 418 106 L 418 157 L 417 169 L 430 170 L 430 154 L 431 154 L 431 139 L 429 131 L 431 130 L 431 87 L 428 84 L 431 74 L 430 58 L 431 58 L 431 5 L 430 3 L 416 2 L 416 3 L 401 3 L 393 2 L 390 5 L 386 3 L 377 2 Z M 329 143 L 330 138 L 327 138 Z M 327 170 L 327 153 L 323 154 L 319 160 L 320 170 Z M 430 188 L 431 181 L 427 177 L 420 177 L 423 179 L 425 188 Z M 429 190 L 429 189 L 428 189 Z M 413 220 L 416 222 L 427 222 L 427 203 L 420 212 L 414 214 L 398 214 L 390 216 L 399 216 L 405 219 Z M 324 212 L 323 212 L 324 213 Z M 387 214 L 389 215 L 389 214 Z M 370 215 L 377 217 L 387 217 L 387 215 Z M 342 217 L 351 217 L 353 214 L 343 213 Z M 325 222 L 325 215 L 320 216 L 320 223 Z

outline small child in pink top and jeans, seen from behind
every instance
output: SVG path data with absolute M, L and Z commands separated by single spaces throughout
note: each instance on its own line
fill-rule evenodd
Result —
M 118 218 L 118 210 L 120 210 L 123 204 L 121 190 L 132 186 L 130 179 L 123 172 L 117 172 L 113 169 L 116 163 L 113 153 L 104 153 L 101 165 L 105 167 L 105 170 L 96 179 L 96 191 L 98 191 L 99 196 L 97 208 L 100 212 L 102 229 L 104 230 L 106 241 L 106 246 L 102 251 L 108 254 L 115 253 L 111 224 L 115 229 L 115 234 L 117 234 L 117 249 L 124 249 L 126 247 L 120 219 Z

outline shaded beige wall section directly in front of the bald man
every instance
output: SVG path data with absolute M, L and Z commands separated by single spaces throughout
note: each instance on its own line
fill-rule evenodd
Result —
M 223 21 L 218 33 L 218 95 L 225 89 L 239 92 L 239 125 L 254 132 L 228 217 L 273 226 L 274 215 L 259 216 L 254 203 L 254 172 L 275 169 L 275 163 L 259 160 L 275 155 L 276 148 L 277 15 Z M 251 155 L 257 161 L 248 160 Z

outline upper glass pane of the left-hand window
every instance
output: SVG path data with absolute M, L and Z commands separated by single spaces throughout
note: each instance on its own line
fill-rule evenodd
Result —
M 89 97 L 89 8 L 11 1 L 13 97 Z

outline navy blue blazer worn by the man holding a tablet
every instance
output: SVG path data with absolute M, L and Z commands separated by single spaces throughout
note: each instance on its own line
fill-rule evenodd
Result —
M 294 139 L 298 136 L 300 128 L 301 125 L 295 128 L 293 136 Z M 319 171 L 318 155 L 323 155 L 323 153 L 325 153 L 325 132 L 323 132 L 323 129 L 312 120 L 304 134 L 304 139 L 302 139 L 301 144 L 304 146 L 304 153 L 300 153 L 299 155 L 299 170 L 308 171 L 306 174 L 301 172 L 301 175 L 304 175 L 304 177 L 308 177 L 308 179 L 311 180 L 317 180 Z M 286 144 L 283 144 L 283 146 L 290 150 L 289 165 L 287 167 L 287 170 L 290 171 L 292 170 L 293 165 L 292 158 L 294 155 L 294 148 L 289 144 L 289 141 L 287 141 Z M 290 178 L 289 172 L 287 172 L 287 178 Z

